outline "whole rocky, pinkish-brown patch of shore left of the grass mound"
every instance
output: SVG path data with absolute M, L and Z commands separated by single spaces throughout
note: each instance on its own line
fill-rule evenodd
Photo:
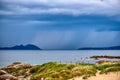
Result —
M 0 69 L 0 80 L 30 80 L 29 63 L 14 62 Z

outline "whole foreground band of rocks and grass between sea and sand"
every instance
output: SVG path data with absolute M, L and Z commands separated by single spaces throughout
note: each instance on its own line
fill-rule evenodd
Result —
M 4 80 L 4 78 L 9 80 L 69 80 L 79 76 L 84 80 L 96 76 L 98 72 L 99 74 L 107 74 L 119 71 L 120 61 L 100 64 L 48 62 L 42 65 L 15 62 L 0 69 L 0 80 Z

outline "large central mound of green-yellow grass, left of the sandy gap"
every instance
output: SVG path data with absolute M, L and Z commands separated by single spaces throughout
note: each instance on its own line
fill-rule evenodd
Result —
M 33 74 L 31 80 L 67 80 L 76 76 L 92 76 L 97 70 L 91 64 L 60 64 L 49 62 L 43 65 L 34 66 L 30 72 Z

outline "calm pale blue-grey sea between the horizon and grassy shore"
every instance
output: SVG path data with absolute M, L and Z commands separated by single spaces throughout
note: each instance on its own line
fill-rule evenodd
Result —
M 0 50 L 0 67 L 13 62 L 26 62 L 33 65 L 47 62 L 96 63 L 98 60 L 90 57 L 101 55 L 120 56 L 120 50 Z

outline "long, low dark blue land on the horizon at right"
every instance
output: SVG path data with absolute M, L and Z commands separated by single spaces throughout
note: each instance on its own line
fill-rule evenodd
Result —
M 113 46 L 113 47 L 86 47 L 86 48 L 79 48 L 78 50 L 120 50 L 120 46 Z

